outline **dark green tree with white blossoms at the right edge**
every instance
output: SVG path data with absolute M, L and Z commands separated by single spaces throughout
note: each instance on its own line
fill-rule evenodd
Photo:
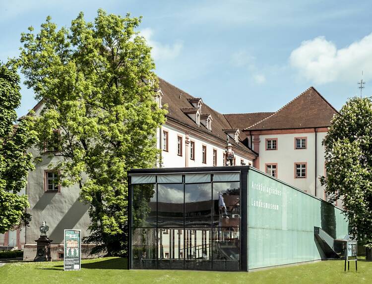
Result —
M 372 248 L 372 102 L 352 98 L 332 119 L 323 141 L 329 201 L 343 201 L 350 234 Z M 372 256 L 372 255 L 371 255 Z M 371 259 L 372 260 L 372 259 Z

